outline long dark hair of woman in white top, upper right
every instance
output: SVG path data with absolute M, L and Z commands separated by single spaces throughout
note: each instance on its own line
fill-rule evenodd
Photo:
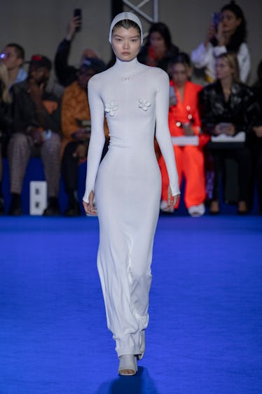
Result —
M 246 18 L 244 18 L 242 8 L 238 6 L 235 1 L 230 1 L 230 3 L 223 6 L 221 8 L 221 13 L 223 13 L 223 11 L 230 11 L 236 16 L 237 19 L 241 19 L 240 25 L 237 26 L 235 33 L 232 34 L 232 36 L 230 37 L 230 41 L 226 46 L 228 51 L 238 52 L 240 45 L 242 44 L 242 42 L 246 41 L 247 38 Z

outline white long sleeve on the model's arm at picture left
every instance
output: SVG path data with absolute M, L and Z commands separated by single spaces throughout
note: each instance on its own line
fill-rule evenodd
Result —
M 91 136 L 88 147 L 85 194 L 83 201 L 88 202 L 88 196 L 95 190 L 95 180 L 104 147 L 104 105 L 95 88 L 92 79 L 88 82 L 88 103 L 91 114 Z

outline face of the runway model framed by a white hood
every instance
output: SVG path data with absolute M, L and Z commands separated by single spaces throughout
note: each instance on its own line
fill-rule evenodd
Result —
M 129 62 L 135 59 L 140 50 L 140 34 L 135 27 L 125 29 L 116 27 L 112 34 L 113 53 L 119 60 Z

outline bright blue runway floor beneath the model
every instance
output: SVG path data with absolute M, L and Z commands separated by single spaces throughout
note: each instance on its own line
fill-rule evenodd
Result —
M 118 377 L 97 218 L 0 218 L 0 394 L 261 394 L 262 220 L 160 217 L 146 355 Z

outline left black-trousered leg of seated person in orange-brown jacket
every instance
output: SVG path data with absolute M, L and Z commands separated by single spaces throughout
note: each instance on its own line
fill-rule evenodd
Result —
M 64 212 L 65 216 L 78 216 L 81 214 L 78 203 L 78 157 L 74 157 L 78 143 L 68 143 L 64 148 L 64 154 L 61 163 L 61 174 L 64 182 L 64 190 L 68 197 L 68 206 Z

